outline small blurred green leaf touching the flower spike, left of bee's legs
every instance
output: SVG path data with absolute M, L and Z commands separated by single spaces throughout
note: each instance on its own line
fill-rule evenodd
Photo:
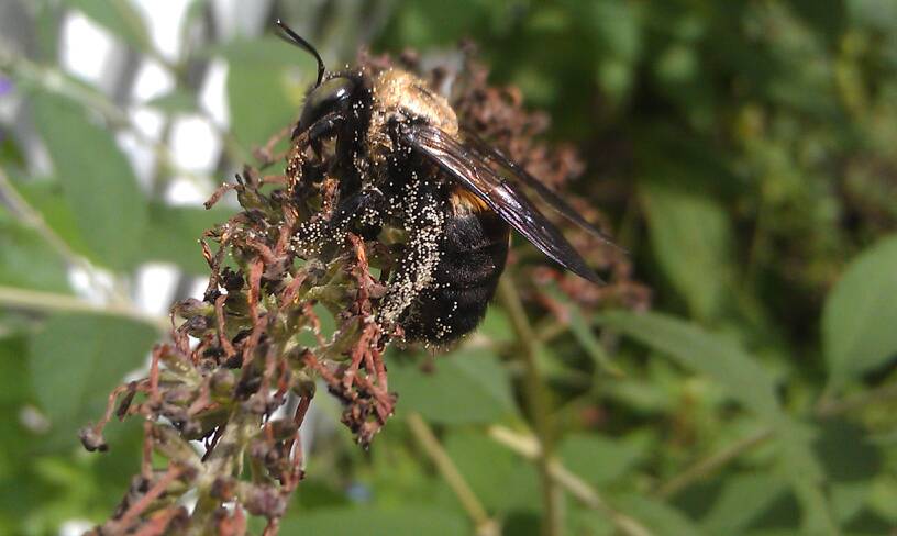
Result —
M 204 210 L 201 206 L 150 203 L 150 222 L 142 241 L 142 259 L 175 263 L 188 272 L 207 275 L 209 265 L 202 257 L 198 241 L 203 231 L 226 221 L 233 212 L 218 206 Z

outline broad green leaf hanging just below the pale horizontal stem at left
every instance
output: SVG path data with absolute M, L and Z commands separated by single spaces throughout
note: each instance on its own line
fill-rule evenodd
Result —
M 31 340 L 31 379 L 55 437 L 74 444 L 75 432 L 102 416 L 109 392 L 145 361 L 156 332 L 102 315 L 49 317 Z

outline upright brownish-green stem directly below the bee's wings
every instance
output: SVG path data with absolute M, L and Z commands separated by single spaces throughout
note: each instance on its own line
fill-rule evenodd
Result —
M 510 278 L 503 277 L 498 284 L 499 299 L 508 311 L 514 332 L 520 339 L 521 356 L 525 368 L 527 398 L 532 413 L 535 433 L 542 447 L 539 449 L 536 465 L 542 482 L 542 504 L 544 521 L 543 536 L 560 536 L 564 534 L 564 520 L 561 509 L 563 495 L 551 473 L 551 457 L 553 454 L 553 423 L 551 415 L 550 393 L 545 388 L 542 373 L 539 369 L 538 351 L 539 339 L 523 310 L 523 304 Z

